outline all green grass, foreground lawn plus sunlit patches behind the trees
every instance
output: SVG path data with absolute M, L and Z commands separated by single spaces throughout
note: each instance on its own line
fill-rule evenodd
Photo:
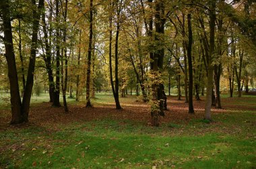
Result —
M 42 97 L 37 101 L 47 101 Z M 121 103 L 135 98 L 121 98 Z M 234 99 L 234 104 L 252 106 L 255 99 Z M 114 100 L 96 95 L 94 103 Z M 230 103 L 223 99 L 223 104 Z M 160 127 L 127 119 L 58 124 L 55 129 L 7 127 L 0 130 L 0 168 L 255 168 L 255 113 L 226 110 L 213 114 L 214 123 L 195 119 Z

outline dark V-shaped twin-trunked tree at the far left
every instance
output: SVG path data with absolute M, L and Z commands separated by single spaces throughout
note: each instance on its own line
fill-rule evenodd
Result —
M 9 1 L 1 3 L 1 14 L 3 18 L 3 32 L 4 32 L 4 44 L 5 44 L 5 58 L 8 65 L 8 76 L 11 89 L 11 124 L 18 124 L 28 121 L 28 111 L 30 106 L 30 98 L 32 94 L 32 88 L 34 83 L 34 66 L 36 62 L 36 46 L 38 41 L 38 28 L 39 19 L 44 7 L 44 1 L 38 2 L 38 7 L 35 8 L 36 1 L 31 1 L 32 5 L 32 42 L 30 47 L 30 62 L 28 66 L 28 73 L 26 79 L 26 86 L 24 90 L 24 97 L 21 101 L 19 84 L 18 84 L 18 72 L 15 62 L 15 54 L 13 50 L 13 37 L 11 29 L 11 10 Z

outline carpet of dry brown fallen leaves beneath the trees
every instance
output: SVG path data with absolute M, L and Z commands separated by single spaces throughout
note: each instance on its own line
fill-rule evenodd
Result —
M 226 100 L 228 101 L 228 100 Z M 203 119 L 204 101 L 194 101 L 195 114 L 188 113 L 188 104 L 184 98 L 178 101 L 176 97 L 168 97 L 168 111 L 165 117 L 161 117 L 161 123 L 187 123 L 191 119 Z M 236 109 L 237 105 L 225 103 L 228 109 Z M 93 121 L 96 119 L 129 119 L 131 121 L 142 121 L 148 124 L 150 121 L 150 105 L 147 103 L 121 103 L 123 109 L 115 109 L 115 105 L 94 105 L 86 108 L 85 105 L 69 105 L 69 113 L 65 113 L 63 107 L 52 107 L 51 103 L 40 103 L 30 108 L 30 124 L 54 129 L 56 125 L 66 125 L 68 123 Z M 243 107 L 245 109 L 245 107 Z M 226 109 L 212 108 L 212 113 L 224 113 Z M 11 119 L 10 111 L 0 111 L 0 130 L 7 127 Z M 29 125 L 29 123 L 28 123 Z M 20 126 L 19 126 L 20 127 Z M 57 129 L 58 127 L 56 127 Z

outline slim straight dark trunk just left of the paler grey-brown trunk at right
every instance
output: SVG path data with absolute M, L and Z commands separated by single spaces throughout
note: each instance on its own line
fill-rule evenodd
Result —
M 193 107 L 193 68 L 192 68 L 192 27 L 191 27 L 191 14 L 187 15 L 187 25 L 189 30 L 189 44 L 187 46 L 187 58 L 189 62 L 189 113 L 195 113 Z

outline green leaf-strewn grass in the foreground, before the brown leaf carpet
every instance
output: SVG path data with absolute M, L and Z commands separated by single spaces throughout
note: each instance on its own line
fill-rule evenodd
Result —
M 164 135 L 168 127 L 119 122 L 105 119 L 73 123 L 54 132 L 38 127 L 1 132 L 1 144 L 5 144 L 1 146 L 10 147 L 1 154 L 1 165 L 7 168 L 255 167 L 253 137 L 218 132 Z M 194 121 L 193 125 L 201 123 Z

